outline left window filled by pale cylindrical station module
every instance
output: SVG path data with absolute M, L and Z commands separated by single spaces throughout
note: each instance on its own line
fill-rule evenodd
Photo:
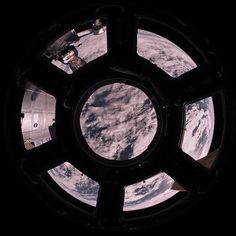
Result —
M 34 85 L 28 85 L 21 107 L 21 129 L 26 149 L 32 149 L 55 136 L 55 98 Z

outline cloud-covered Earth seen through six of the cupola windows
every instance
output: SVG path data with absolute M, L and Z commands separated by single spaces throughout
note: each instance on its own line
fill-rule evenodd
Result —
M 89 62 L 106 53 L 106 33 L 81 38 L 79 55 Z M 157 34 L 139 30 L 138 54 L 155 64 L 173 79 L 197 65 L 177 45 Z M 52 62 L 60 67 L 60 64 Z M 69 69 L 60 67 L 67 73 Z M 103 86 L 85 103 L 80 117 L 82 133 L 90 148 L 100 156 L 113 160 L 135 158 L 151 143 L 158 129 L 153 104 L 141 90 L 122 83 Z M 214 132 L 212 98 L 185 106 L 185 129 L 182 150 L 195 160 L 205 157 Z M 141 145 L 143 144 L 143 145 Z M 68 194 L 96 206 L 99 185 L 70 163 L 48 171 L 52 179 Z M 125 187 L 124 211 L 151 207 L 178 193 L 174 180 L 166 173 Z

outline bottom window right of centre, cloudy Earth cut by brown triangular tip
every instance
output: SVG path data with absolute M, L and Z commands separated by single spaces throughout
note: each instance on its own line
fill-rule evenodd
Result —
M 134 211 L 166 201 L 178 191 L 172 190 L 174 180 L 165 173 L 125 187 L 124 211 Z

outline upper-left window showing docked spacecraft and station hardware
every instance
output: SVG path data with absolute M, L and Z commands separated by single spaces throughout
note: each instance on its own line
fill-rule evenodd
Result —
M 107 52 L 106 27 L 101 19 L 67 32 L 52 45 L 44 56 L 68 74 Z

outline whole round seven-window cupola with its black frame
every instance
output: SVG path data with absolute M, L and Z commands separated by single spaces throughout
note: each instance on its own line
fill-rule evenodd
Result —
M 71 19 L 41 36 L 17 76 L 18 166 L 83 226 L 164 222 L 220 170 L 221 65 L 158 13 L 95 4 Z

